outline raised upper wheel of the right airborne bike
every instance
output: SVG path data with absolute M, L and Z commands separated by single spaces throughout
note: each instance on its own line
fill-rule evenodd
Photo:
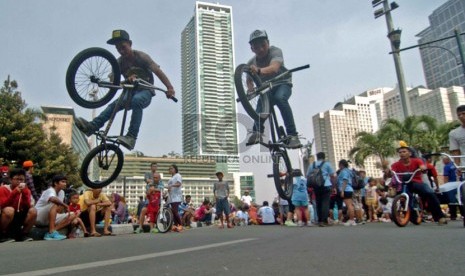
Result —
M 252 82 L 250 82 L 252 80 Z M 253 75 L 247 64 L 241 64 L 236 67 L 234 72 L 234 84 L 239 100 L 244 107 L 245 112 L 254 120 L 266 119 L 270 116 L 270 101 L 268 93 L 260 94 L 259 96 L 249 99 L 247 91 L 248 85 L 254 88 L 261 85 L 261 80 Z M 257 108 L 261 108 L 261 112 L 257 113 Z

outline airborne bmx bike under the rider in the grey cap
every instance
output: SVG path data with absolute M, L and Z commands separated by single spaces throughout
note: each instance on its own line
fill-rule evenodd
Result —
M 300 66 L 287 70 L 272 79 L 262 82 L 261 79 L 250 71 L 247 64 L 239 65 L 234 72 L 236 92 L 247 114 L 254 120 L 266 120 L 270 117 L 271 141 L 260 144 L 268 148 L 273 162 L 274 183 L 279 196 L 283 199 L 291 199 L 292 196 L 292 165 L 287 153 L 288 136 L 283 126 L 280 126 L 268 92 L 280 84 L 280 80 L 289 76 L 292 72 L 307 69 L 310 65 Z M 257 111 L 258 110 L 258 111 Z M 247 143 L 246 146 L 249 146 Z

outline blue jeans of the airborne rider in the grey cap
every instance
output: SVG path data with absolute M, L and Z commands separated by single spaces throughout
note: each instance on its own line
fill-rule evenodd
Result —
M 271 106 L 277 105 L 279 111 L 281 112 L 281 116 L 283 117 L 284 126 L 286 127 L 287 135 L 297 135 L 297 130 L 294 123 L 294 115 L 292 114 L 291 106 L 289 105 L 289 98 L 292 95 L 292 86 L 290 84 L 281 84 L 276 86 L 275 88 L 271 89 L 268 92 L 270 97 L 270 104 Z M 262 112 L 260 100 L 258 100 L 257 104 L 257 113 Z M 260 131 L 263 133 L 265 120 L 255 121 L 253 130 Z

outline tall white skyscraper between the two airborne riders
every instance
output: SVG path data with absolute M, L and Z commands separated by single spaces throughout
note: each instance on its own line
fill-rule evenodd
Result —
M 239 171 L 232 8 L 196 2 L 181 35 L 183 155 Z

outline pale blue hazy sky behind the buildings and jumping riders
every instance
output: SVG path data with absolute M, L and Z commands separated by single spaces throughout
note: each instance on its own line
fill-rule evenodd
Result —
M 298 131 L 310 140 L 314 114 L 348 96 L 396 84 L 385 18 L 374 19 L 371 0 L 215 2 L 233 8 L 236 65 L 252 56 L 247 41 L 254 29 L 267 30 L 271 44 L 283 50 L 287 67 L 311 65 L 294 74 L 290 99 Z M 415 35 L 429 26 L 428 15 L 446 1 L 396 2 L 400 7 L 392 12 L 394 25 L 402 29 L 401 47 L 407 47 L 417 44 Z M 66 92 L 67 66 L 88 47 L 103 47 L 116 55 L 105 42 L 113 29 L 122 28 L 130 33 L 134 49 L 147 52 L 161 65 L 181 98 L 180 34 L 193 16 L 194 4 L 193 0 L 2 0 L 0 78 L 9 74 L 17 80 L 30 107 L 72 106 L 78 116 L 90 118 L 91 111 L 77 106 Z M 402 62 L 407 85 L 424 85 L 418 50 L 403 52 Z M 240 142 L 246 128 L 240 126 Z M 139 135 L 136 149 L 146 155 L 181 153 L 181 104 L 157 95 L 145 110 Z M 260 153 L 255 147 L 243 154 Z M 267 162 L 250 165 L 242 168 L 271 167 Z M 270 199 L 269 192 L 261 195 L 265 194 L 260 198 Z

